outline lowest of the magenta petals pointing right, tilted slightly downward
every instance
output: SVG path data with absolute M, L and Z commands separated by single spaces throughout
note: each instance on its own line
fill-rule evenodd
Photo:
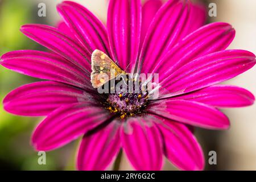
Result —
M 229 119 L 215 107 L 195 101 L 168 100 L 152 103 L 150 113 L 206 129 L 228 129 Z

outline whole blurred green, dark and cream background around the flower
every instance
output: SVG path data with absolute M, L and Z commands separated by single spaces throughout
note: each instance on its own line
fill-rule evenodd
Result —
M 199 0 L 200 1 L 200 0 Z M 47 5 L 47 16 L 38 17 L 38 3 Z M 60 0 L 0 0 L 0 55 L 16 49 L 40 49 L 43 47 L 26 38 L 19 27 L 26 23 L 43 23 L 54 26 L 60 19 L 56 3 Z M 106 0 L 77 0 L 106 22 Z M 217 4 L 217 17 L 209 22 L 231 23 L 237 36 L 230 48 L 247 49 L 256 53 L 256 1 L 212 0 L 202 1 L 207 6 Z M 228 81 L 228 84 L 243 86 L 256 94 L 256 69 Z M 36 81 L 35 78 L 20 75 L 0 67 L 0 101 L 5 95 L 21 86 Z M 30 145 L 31 133 L 43 118 L 19 117 L 5 112 L 0 103 L 0 169 L 2 170 L 73 170 L 79 141 L 55 151 L 47 152 L 47 164 L 38 164 L 38 152 Z M 231 120 L 228 131 L 196 129 L 196 136 L 205 152 L 206 169 L 256 170 L 256 106 L 226 109 Z M 208 152 L 217 152 L 217 165 L 208 164 Z M 110 168 L 111 169 L 111 168 Z M 121 169 L 132 169 L 123 156 Z M 175 168 L 168 162 L 166 170 Z

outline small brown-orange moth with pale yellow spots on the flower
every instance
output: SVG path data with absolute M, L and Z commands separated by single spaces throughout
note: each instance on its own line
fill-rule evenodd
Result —
M 90 74 L 93 88 L 99 88 L 119 75 L 126 75 L 126 72 L 119 68 L 104 52 L 98 49 L 93 51 L 92 73 Z

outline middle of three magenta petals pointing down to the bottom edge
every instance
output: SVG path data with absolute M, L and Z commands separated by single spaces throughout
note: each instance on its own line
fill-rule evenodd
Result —
M 160 170 L 163 166 L 160 134 L 153 122 L 130 118 L 123 125 L 123 150 L 136 170 Z

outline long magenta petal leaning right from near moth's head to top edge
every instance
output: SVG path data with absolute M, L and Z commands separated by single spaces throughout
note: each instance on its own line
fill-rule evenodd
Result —
M 153 66 L 187 35 L 188 28 L 184 27 L 187 25 L 188 16 L 189 3 L 173 0 L 160 8 L 148 28 L 134 72 L 147 73 L 142 68 L 143 64 Z

